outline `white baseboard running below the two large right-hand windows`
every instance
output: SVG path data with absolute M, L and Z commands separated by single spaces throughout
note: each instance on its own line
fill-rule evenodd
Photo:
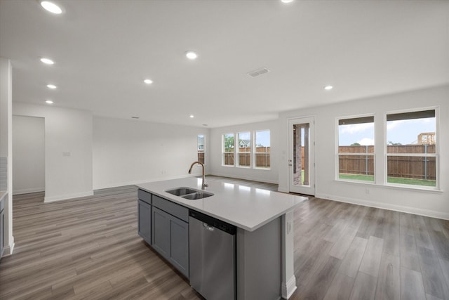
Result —
M 431 218 L 449 220 L 449 214 L 441 212 L 441 211 L 432 211 L 429 209 L 419 209 L 416 207 L 406 207 L 406 206 L 402 206 L 402 205 L 361 200 L 361 199 L 356 199 L 356 198 L 351 198 L 351 197 L 340 197 L 340 196 L 328 195 L 328 194 L 322 194 L 322 193 L 316 193 L 315 197 L 326 199 L 326 200 L 333 200 L 333 201 L 338 201 L 338 202 L 363 205 L 365 207 L 388 209 L 388 210 L 392 210 L 392 211 L 406 212 L 408 214 L 417 214 L 420 216 L 429 216 Z

